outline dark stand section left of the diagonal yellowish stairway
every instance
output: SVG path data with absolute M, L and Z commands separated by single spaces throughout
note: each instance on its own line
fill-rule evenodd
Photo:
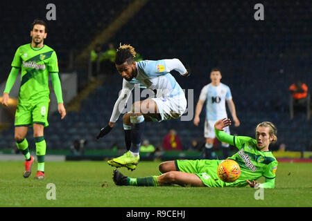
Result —
M 46 5 L 54 3 L 56 20 L 46 21 Z M 1 35 L 0 56 L 3 58 L 0 68 L 6 80 L 10 72 L 10 64 L 17 48 L 31 41 L 29 37 L 31 23 L 34 19 L 44 19 L 48 25 L 48 35 L 44 43 L 51 46 L 58 55 L 61 72 L 68 71 L 69 55 L 77 55 L 80 50 L 94 39 L 96 34 L 112 22 L 130 3 L 121 1 L 13 1 L 10 4 L 0 3 L 0 25 L 6 30 Z M 6 16 L 10 15 L 10 16 Z M 9 18 L 15 17 L 12 21 Z

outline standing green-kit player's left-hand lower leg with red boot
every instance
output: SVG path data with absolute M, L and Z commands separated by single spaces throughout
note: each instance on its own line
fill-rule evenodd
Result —
M 25 157 L 25 171 L 23 176 L 25 178 L 31 175 L 31 166 L 33 165 L 33 156 L 29 152 L 28 142 L 26 140 L 26 134 L 28 131 L 28 126 L 16 126 L 15 127 L 15 141 L 17 144 L 17 148 L 23 153 Z

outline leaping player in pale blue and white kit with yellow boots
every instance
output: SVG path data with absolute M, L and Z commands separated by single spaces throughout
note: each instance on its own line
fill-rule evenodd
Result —
M 131 144 L 130 150 L 121 157 L 116 157 L 107 162 L 111 166 L 125 166 L 132 171 L 136 169 L 139 162 L 139 148 L 144 135 L 145 122 L 177 119 L 183 115 L 187 108 L 187 99 L 182 88 L 171 75 L 171 70 L 177 71 L 182 76 L 189 76 L 187 69 L 179 59 L 136 62 L 134 61 L 135 55 L 135 48 L 130 45 L 120 45 L 116 50 L 115 65 L 123 77 L 123 90 L 130 93 L 134 87 L 132 81 L 135 80 L 146 88 L 157 91 L 156 97 L 132 104 L 132 111 L 123 116 L 124 128 L 128 128 L 125 133 L 130 134 L 125 136 L 125 143 Z M 119 96 L 120 100 L 115 103 L 109 124 L 101 129 L 97 138 L 110 133 L 124 108 L 120 102 L 126 104 L 129 97 L 128 93 L 125 93 L 123 97 Z

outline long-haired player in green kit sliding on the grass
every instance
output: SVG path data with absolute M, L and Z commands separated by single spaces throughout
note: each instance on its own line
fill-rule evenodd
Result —
M 118 170 L 114 170 L 113 180 L 120 186 L 164 186 L 179 184 L 181 186 L 248 186 L 260 188 L 275 187 L 275 172 L 277 160 L 269 151 L 269 145 L 277 141 L 277 128 L 271 122 L 257 125 L 256 139 L 245 136 L 232 136 L 223 131 L 231 125 L 230 119 L 220 119 L 214 124 L 216 137 L 239 149 L 237 153 L 227 159 L 235 160 L 241 166 L 241 175 L 234 182 L 223 182 L 218 178 L 217 168 L 222 160 L 174 160 L 159 165 L 159 176 L 141 178 L 126 177 Z M 266 182 L 256 182 L 260 177 Z

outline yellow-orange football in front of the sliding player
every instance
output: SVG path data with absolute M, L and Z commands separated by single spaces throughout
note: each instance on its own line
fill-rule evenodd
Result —
M 241 167 L 235 160 L 223 160 L 218 166 L 217 174 L 224 182 L 234 182 L 241 175 Z

